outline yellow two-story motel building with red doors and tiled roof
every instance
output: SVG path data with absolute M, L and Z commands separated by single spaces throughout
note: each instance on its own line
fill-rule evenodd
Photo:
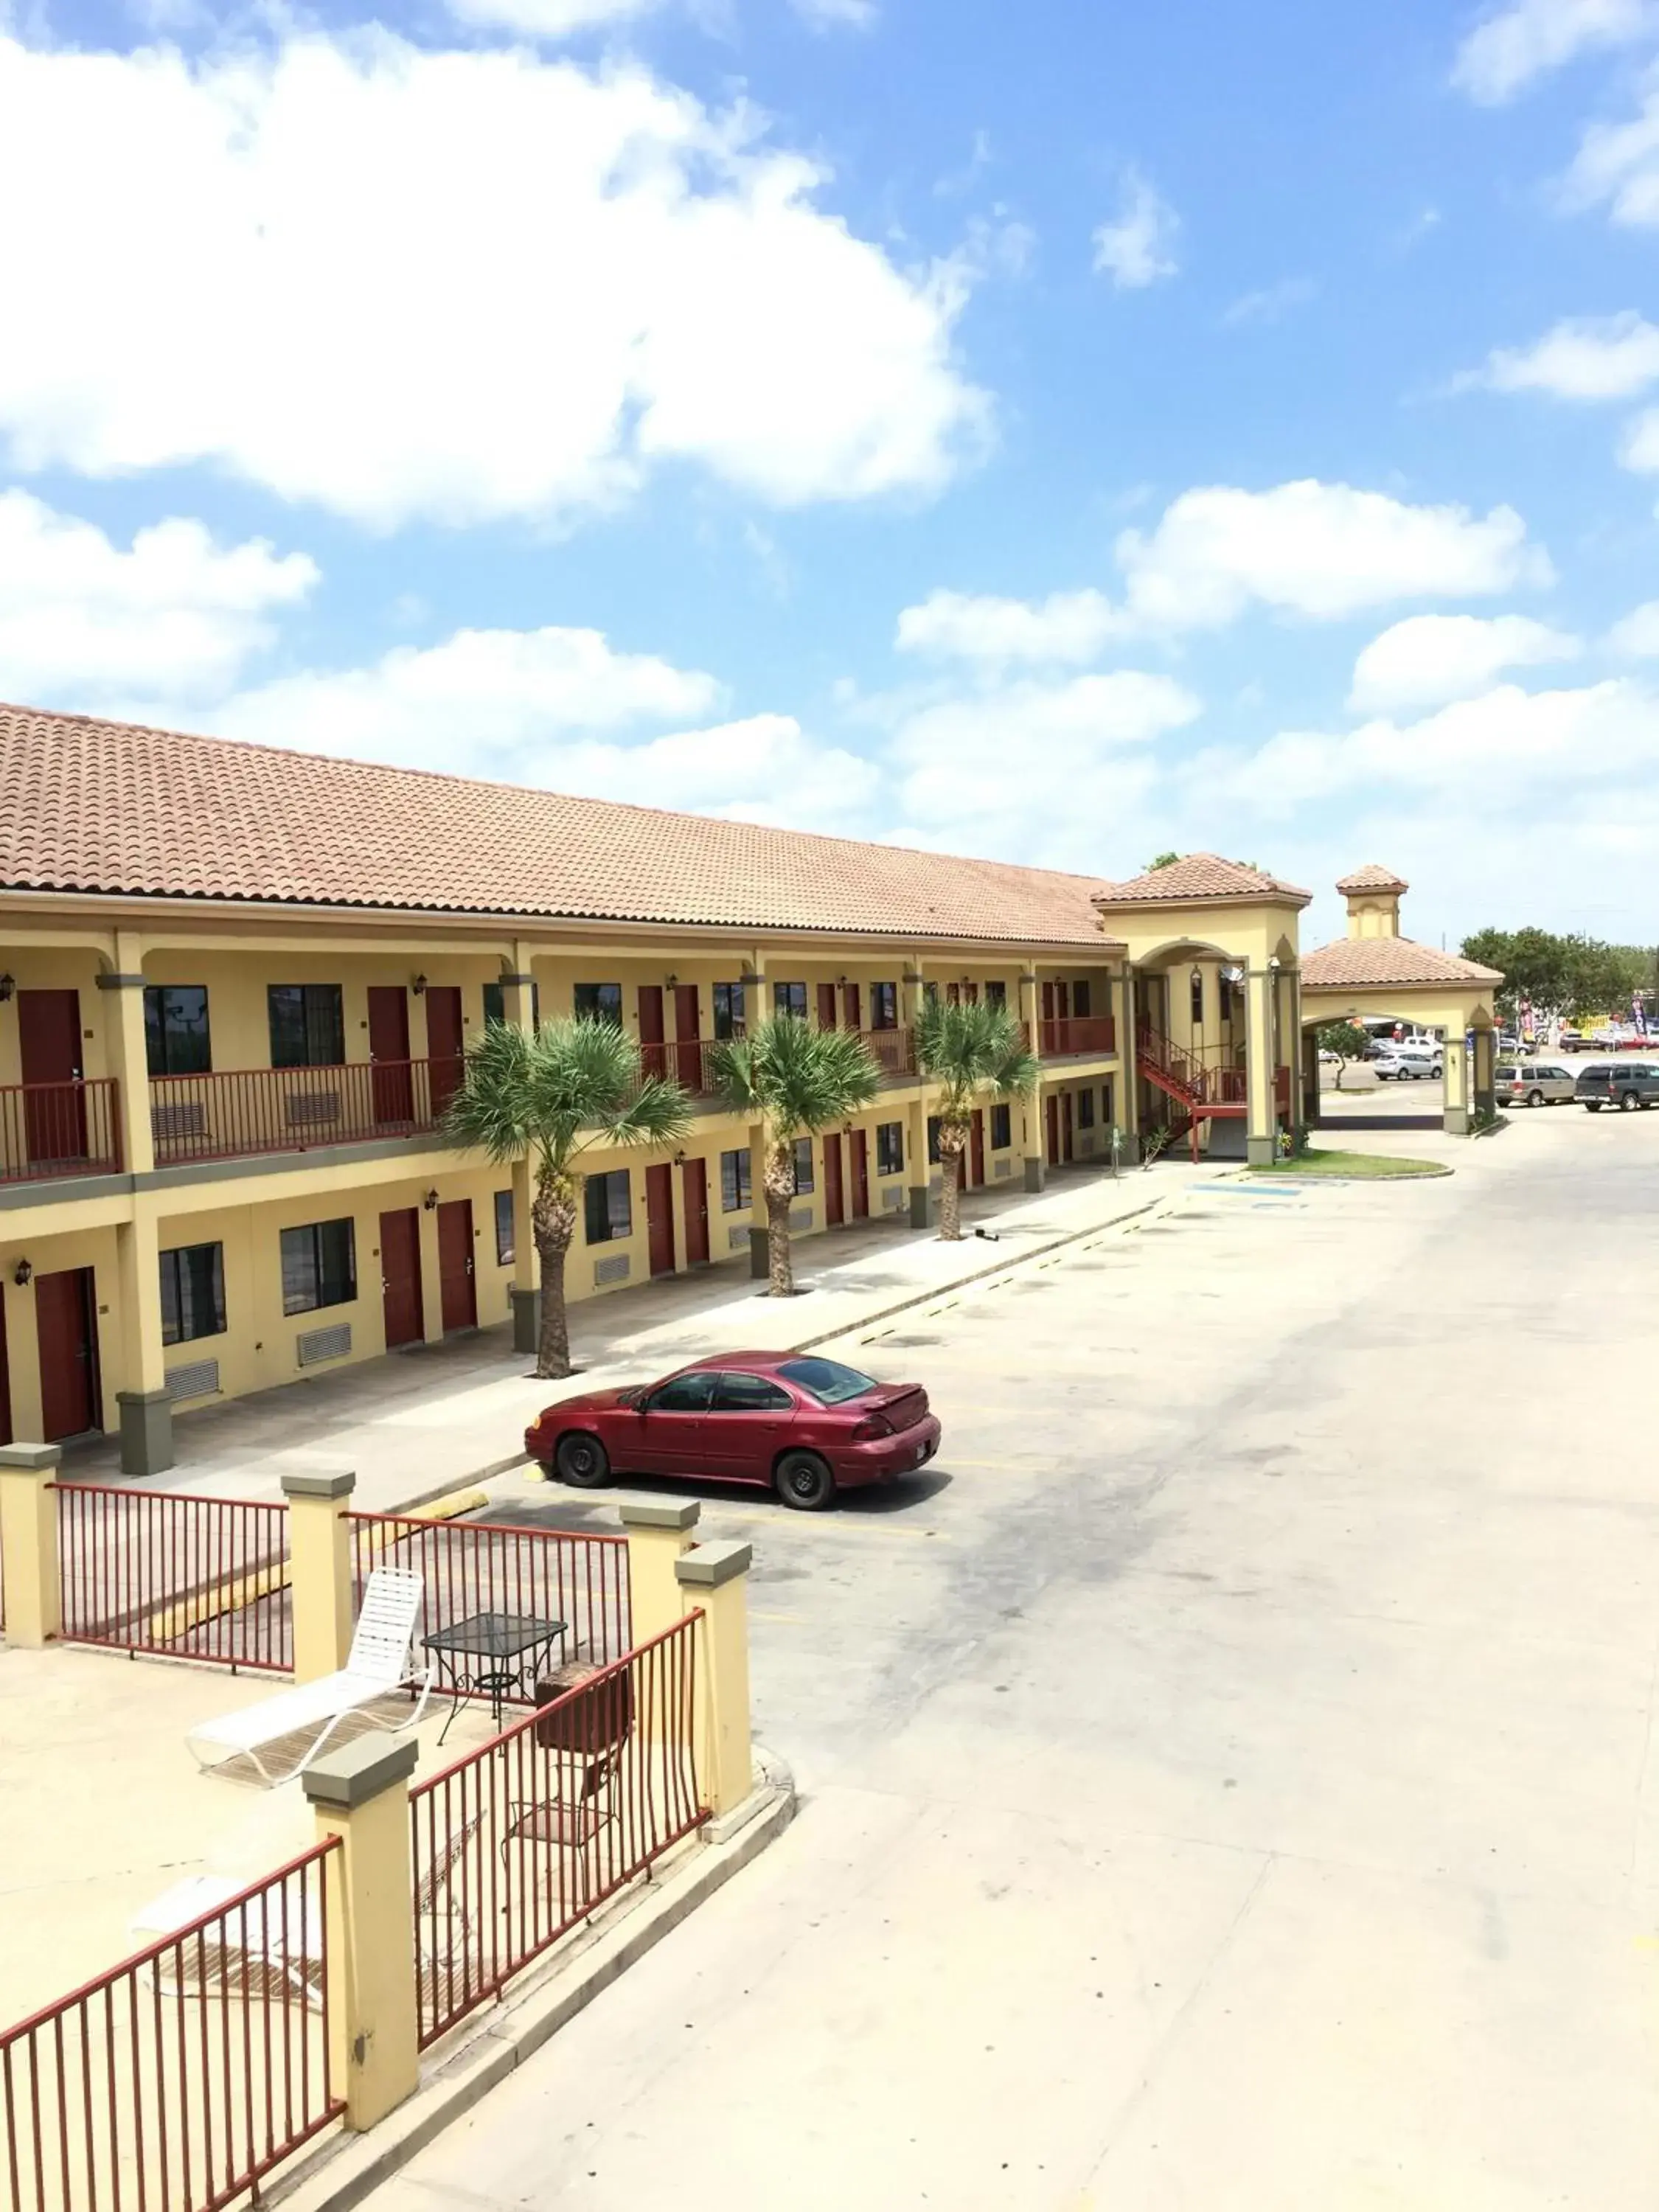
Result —
M 799 1148 L 801 1234 L 927 1228 L 929 991 L 1006 1000 L 1042 1064 L 969 1186 L 1113 1130 L 1135 1157 L 1183 1097 L 1194 1146 L 1267 1159 L 1305 902 L 1203 854 L 1113 885 L 0 708 L 0 1440 L 119 1429 L 153 1473 L 175 1409 L 509 1318 L 531 1345 L 526 1168 L 438 1130 L 489 1020 L 617 1020 L 697 1102 L 670 1152 L 586 1155 L 573 1298 L 763 1248 L 703 1048 L 772 1011 L 883 1071 Z

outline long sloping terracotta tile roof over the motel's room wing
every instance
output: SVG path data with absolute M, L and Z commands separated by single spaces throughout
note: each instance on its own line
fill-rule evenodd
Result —
M 1095 876 L 9 706 L 0 887 L 1115 945 Z

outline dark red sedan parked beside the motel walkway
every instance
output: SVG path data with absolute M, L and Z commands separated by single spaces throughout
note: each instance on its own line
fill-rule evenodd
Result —
M 938 1438 L 914 1383 L 874 1383 L 816 1354 L 728 1352 L 661 1383 L 562 1398 L 524 1431 L 524 1449 L 577 1489 L 613 1471 L 714 1475 L 763 1482 L 816 1513 L 841 1489 L 925 1467 Z

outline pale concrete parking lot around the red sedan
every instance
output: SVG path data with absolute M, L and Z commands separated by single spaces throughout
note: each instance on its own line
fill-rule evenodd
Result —
M 383 2212 L 1655 2201 L 1659 1117 L 1409 1141 L 838 1347 L 938 1471 L 703 1515 L 801 1818 Z

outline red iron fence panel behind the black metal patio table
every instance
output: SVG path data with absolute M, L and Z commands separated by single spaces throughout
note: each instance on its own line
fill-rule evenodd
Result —
M 564 1535 L 498 1522 L 431 1522 L 396 1513 L 352 1513 L 356 1604 L 376 1566 L 411 1566 L 425 1582 L 420 1637 L 480 1613 L 564 1621 L 564 1659 L 604 1666 L 633 1644 L 628 1540 Z M 529 1692 L 509 1692 L 526 1703 Z

